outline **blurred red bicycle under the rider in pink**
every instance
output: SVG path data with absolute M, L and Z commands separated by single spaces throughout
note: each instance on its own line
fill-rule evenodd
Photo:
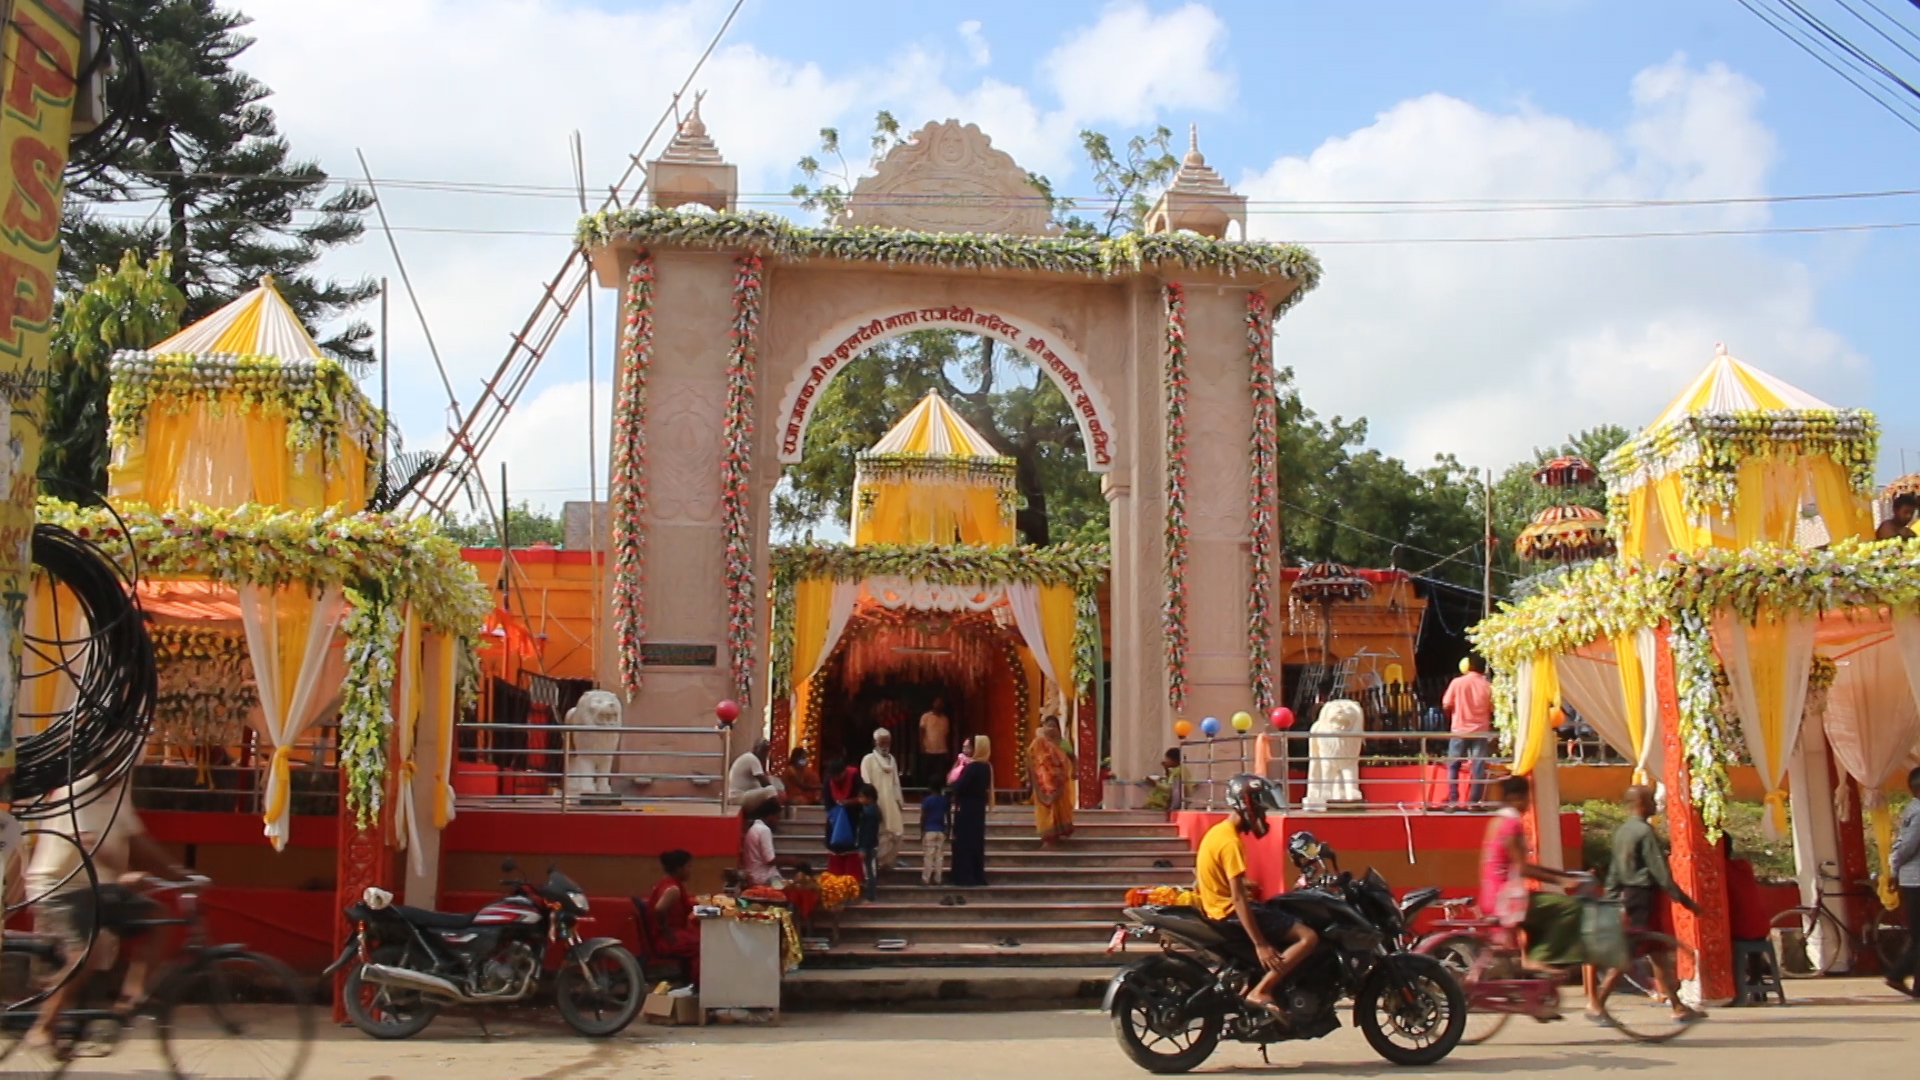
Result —
M 1467 992 L 1467 1032 L 1461 1043 L 1482 1043 L 1515 1015 L 1540 1022 L 1559 1020 L 1559 992 L 1567 976 L 1524 970 L 1511 932 L 1496 919 L 1486 919 L 1471 899 L 1440 899 L 1442 919 L 1417 945 L 1459 978 Z M 1692 951 L 1668 934 L 1638 930 L 1626 934 L 1632 965 L 1624 969 L 1620 986 L 1607 995 L 1605 1026 L 1634 1042 L 1659 1043 L 1680 1036 L 1686 1024 L 1672 1020 L 1672 1003 L 1659 994 L 1653 970 L 1686 970 Z M 1596 972 L 1596 976 L 1601 972 Z

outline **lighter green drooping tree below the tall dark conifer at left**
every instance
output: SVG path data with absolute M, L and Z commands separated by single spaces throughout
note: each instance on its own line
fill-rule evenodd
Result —
M 186 298 L 167 281 L 167 254 L 142 263 L 125 252 L 117 269 L 96 267 L 84 288 L 65 292 L 48 348 L 46 446 L 40 486 L 63 500 L 108 492 L 108 361 L 180 329 Z

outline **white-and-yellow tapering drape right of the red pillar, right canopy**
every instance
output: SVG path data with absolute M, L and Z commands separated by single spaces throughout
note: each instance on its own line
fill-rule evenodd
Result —
M 1807 709 L 1816 625 L 1801 611 L 1761 613 L 1757 625 L 1728 609 L 1713 617 L 1713 644 L 1726 669 L 1740 730 L 1766 786 L 1770 813 L 1763 817 L 1763 826 L 1772 840 L 1786 834 L 1788 761 Z

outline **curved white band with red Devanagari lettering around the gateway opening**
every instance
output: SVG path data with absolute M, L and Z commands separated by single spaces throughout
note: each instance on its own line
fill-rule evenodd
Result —
M 1044 323 L 1025 313 L 945 304 L 862 313 L 839 323 L 806 350 L 806 356 L 814 357 L 812 363 L 793 373 L 787 392 L 780 398 L 780 411 L 774 413 L 780 425 L 776 432 L 780 463 L 793 465 L 801 459 L 814 405 L 849 363 L 887 338 L 914 331 L 962 331 L 1002 342 L 1039 363 L 1073 409 L 1087 452 L 1087 471 L 1110 471 L 1117 454 L 1114 409 L 1079 352 L 1058 334 L 1054 340 L 1041 336 L 1039 327 Z

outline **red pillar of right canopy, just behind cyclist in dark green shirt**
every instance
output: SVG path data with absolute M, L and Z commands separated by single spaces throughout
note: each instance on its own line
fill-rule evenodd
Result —
M 1680 978 L 1701 1003 L 1722 1003 L 1734 997 L 1734 930 L 1726 919 L 1726 857 L 1718 844 L 1707 842 L 1707 826 L 1693 809 L 1692 774 L 1686 748 L 1680 744 L 1680 696 L 1674 688 L 1674 653 L 1668 628 L 1659 630 L 1653 663 L 1655 692 L 1661 705 L 1661 749 L 1667 782 L 1667 832 L 1672 844 L 1670 865 L 1674 884 L 1699 901 L 1699 915 L 1672 905 L 1674 936 L 1680 938 L 1697 963 L 1695 970 L 1682 965 Z

